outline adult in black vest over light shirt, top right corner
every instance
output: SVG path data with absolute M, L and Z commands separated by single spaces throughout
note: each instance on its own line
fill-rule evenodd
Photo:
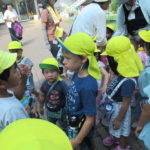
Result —
M 131 35 L 135 42 L 140 40 L 140 30 L 150 30 L 150 0 L 119 0 L 117 30 L 113 36 Z

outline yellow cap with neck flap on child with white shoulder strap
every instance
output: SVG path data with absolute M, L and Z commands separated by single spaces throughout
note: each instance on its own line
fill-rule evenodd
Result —
M 137 77 L 143 70 L 143 64 L 135 52 L 129 38 L 116 36 L 110 39 L 106 51 L 101 55 L 113 56 L 118 63 L 117 71 L 123 77 Z

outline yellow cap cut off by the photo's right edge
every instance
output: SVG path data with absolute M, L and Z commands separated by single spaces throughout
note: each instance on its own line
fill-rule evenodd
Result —
M 143 41 L 150 43 L 150 30 L 139 31 L 139 36 Z

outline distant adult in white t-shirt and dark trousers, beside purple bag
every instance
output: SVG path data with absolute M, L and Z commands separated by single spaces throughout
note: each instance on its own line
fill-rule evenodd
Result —
M 13 4 L 11 3 L 7 4 L 7 10 L 4 13 L 4 20 L 9 29 L 12 41 L 17 41 L 18 39 L 15 36 L 14 31 L 12 30 L 12 23 L 15 21 L 18 21 L 18 15 L 17 15 L 16 10 L 13 8 Z

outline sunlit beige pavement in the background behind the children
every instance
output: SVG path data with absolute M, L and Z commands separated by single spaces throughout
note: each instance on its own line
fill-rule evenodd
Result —
M 52 57 L 48 49 L 46 49 L 43 35 L 41 31 L 40 21 L 24 22 L 23 25 L 23 55 L 30 58 L 33 63 L 34 81 L 39 88 L 43 76 L 39 68 L 39 63 L 48 57 Z M 70 25 L 62 23 L 62 26 L 69 32 Z M 0 49 L 7 51 L 7 45 L 11 41 L 9 31 L 6 25 L 0 25 Z

